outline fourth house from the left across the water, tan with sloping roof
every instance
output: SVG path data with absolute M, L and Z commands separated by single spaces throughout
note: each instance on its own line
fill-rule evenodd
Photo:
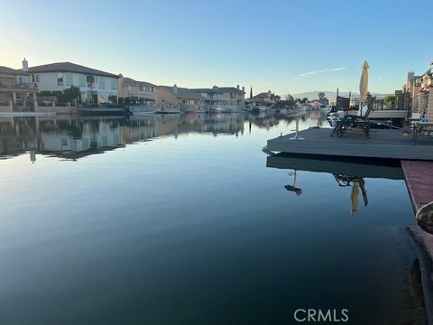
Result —
M 177 85 L 173 87 L 158 86 L 157 102 L 162 105 L 201 106 L 204 104 L 203 98 L 198 93 L 189 88 L 180 88 Z

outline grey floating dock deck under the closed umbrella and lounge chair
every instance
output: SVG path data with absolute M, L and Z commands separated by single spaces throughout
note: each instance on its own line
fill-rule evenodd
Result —
M 305 140 L 290 140 L 294 134 L 268 140 L 267 149 L 274 153 L 307 153 L 317 155 L 391 158 L 399 160 L 433 160 L 433 138 L 419 138 L 399 130 L 372 129 L 371 138 L 358 130 L 348 130 L 343 137 L 331 137 L 332 129 L 309 128 L 299 132 Z

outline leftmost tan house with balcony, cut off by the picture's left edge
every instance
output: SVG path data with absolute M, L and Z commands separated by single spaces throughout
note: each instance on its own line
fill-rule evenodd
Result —
M 0 66 L 0 112 L 32 110 L 36 103 L 36 88 L 27 71 Z

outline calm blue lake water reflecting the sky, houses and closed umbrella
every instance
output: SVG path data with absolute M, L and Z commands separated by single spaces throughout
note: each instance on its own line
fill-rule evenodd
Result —
M 0 117 L 0 323 L 293 324 L 299 308 L 422 323 L 398 166 L 354 179 L 364 167 L 267 158 L 266 140 L 293 128 Z

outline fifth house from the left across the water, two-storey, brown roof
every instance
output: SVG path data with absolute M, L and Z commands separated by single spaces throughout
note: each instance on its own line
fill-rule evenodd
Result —
M 218 87 L 213 88 L 191 88 L 203 100 L 206 107 L 209 108 L 226 108 L 226 109 L 243 109 L 245 103 L 245 88 L 236 87 Z

